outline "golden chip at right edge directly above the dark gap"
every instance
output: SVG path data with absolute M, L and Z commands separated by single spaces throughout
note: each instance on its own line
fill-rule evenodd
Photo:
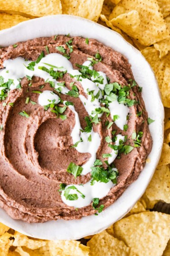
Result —
M 154 201 L 152 205 L 150 204 L 151 206 L 154 206 L 158 200 L 170 203 L 170 169 L 168 165 L 157 167 L 145 194 L 149 201 Z

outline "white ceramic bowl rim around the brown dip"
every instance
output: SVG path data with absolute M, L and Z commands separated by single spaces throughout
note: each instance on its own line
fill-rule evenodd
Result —
M 42 239 L 80 239 L 103 231 L 112 223 L 127 214 L 143 195 L 161 155 L 163 144 L 164 109 L 151 66 L 140 51 L 131 46 L 120 34 L 90 20 L 71 15 L 54 15 L 22 22 L 17 26 L 0 32 L 0 46 L 9 46 L 35 37 L 50 37 L 56 34 L 68 34 L 94 38 L 108 47 L 121 52 L 131 64 L 134 79 L 143 87 L 142 96 L 148 116 L 155 120 L 149 125 L 153 139 L 150 163 L 146 163 L 138 179 L 133 182 L 116 200 L 98 216 L 87 216 L 79 220 L 57 220 L 45 223 L 26 223 L 14 220 L 0 209 L 0 222 L 30 237 Z

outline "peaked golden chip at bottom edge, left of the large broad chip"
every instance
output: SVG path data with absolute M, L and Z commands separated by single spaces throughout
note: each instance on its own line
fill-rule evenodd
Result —
M 90 256 L 128 256 L 130 251 L 124 242 L 112 237 L 105 230 L 91 238 L 87 245 L 90 247 Z

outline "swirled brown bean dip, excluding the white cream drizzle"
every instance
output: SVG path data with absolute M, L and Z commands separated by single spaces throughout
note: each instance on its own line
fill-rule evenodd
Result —
M 66 44 L 69 40 L 72 42 Z M 63 49 L 66 51 L 63 52 Z M 92 201 L 89 205 L 78 208 L 68 206 L 63 202 L 61 183 L 64 189 L 66 185 L 89 182 L 93 178 L 91 170 L 84 175 L 78 174 L 75 178 L 72 173 L 67 172 L 67 168 L 70 163 L 81 167 L 89 161 L 91 154 L 80 153 L 76 146 L 72 147 L 74 143 L 71 134 L 76 123 L 75 112 L 72 111 L 72 108 L 67 106 L 63 113 L 52 112 L 51 110 L 55 110 L 55 106 L 47 108 L 41 106 L 39 104 L 40 93 L 37 91 L 50 90 L 57 94 L 60 98 L 58 107 L 65 106 L 63 101 L 72 102 L 78 113 L 82 130 L 87 127 L 85 117 L 89 116 L 85 104 L 80 97 L 75 98 L 60 93 L 59 90 L 52 87 L 49 81 L 37 76 L 22 78 L 20 80 L 21 88 L 10 89 L 9 83 L 8 88 L 1 90 L 0 207 L 13 219 L 22 219 L 29 223 L 57 219 L 80 219 L 83 216 L 97 213 L 100 205 L 104 205 L 103 210 L 106 209 L 125 191 L 130 183 L 137 179 L 152 148 L 152 138 L 147 123 L 148 113 L 141 95 L 141 88 L 134 82 L 130 64 L 125 56 L 94 39 L 89 39 L 87 42 L 82 37 L 41 37 L 27 42 L 19 42 L 17 46 L 1 48 L 0 68 L 3 70 L 6 60 L 17 57 L 36 61 L 42 51 L 45 56 L 51 53 L 64 55 L 72 63 L 74 70 L 81 70 L 80 66 L 76 64 L 82 65 L 87 58 L 92 58 L 91 61 L 94 60 L 92 61 L 93 69 L 106 74 L 107 84 L 116 82 L 121 88 L 125 86 L 130 88 L 126 98 L 134 100 L 134 104 L 128 106 L 129 120 L 124 130 L 116 126 L 116 120 L 113 121 L 113 116 L 108 112 L 104 112 L 102 116 L 96 116 L 97 124 L 91 123 L 91 129 L 94 133 L 98 133 L 100 138 L 96 152 L 96 159 L 100 160 L 100 165 L 97 165 L 99 172 L 102 167 L 108 170 L 106 161 L 109 158 L 104 156 L 112 153 L 112 146 L 109 145 L 115 144 L 116 135 L 125 136 L 126 140 L 122 144 L 122 153 L 117 151 L 118 157 L 112 166 L 118 170 L 117 184 L 111 187 L 107 195 L 99 199 L 99 204 L 93 205 L 96 209 L 92 206 Z M 8 70 L 6 71 L 8 72 Z M 78 95 L 88 97 L 81 81 L 69 73 L 66 72 L 57 81 L 58 83 L 65 82 L 68 90 L 72 90 L 73 84 L 71 83 L 74 82 Z M 1 81 L 0 89 L 2 89 L 2 84 Z M 107 108 L 109 103 L 104 102 L 104 94 L 105 97 L 108 95 L 103 90 L 103 102 L 100 107 Z M 89 116 L 89 121 L 92 119 L 93 117 Z M 110 140 L 108 140 L 108 136 Z M 97 141 L 92 140 L 91 143 L 95 144 Z M 127 147 L 125 151 L 125 145 L 133 147 L 129 154 Z M 112 178 L 109 181 L 112 182 Z

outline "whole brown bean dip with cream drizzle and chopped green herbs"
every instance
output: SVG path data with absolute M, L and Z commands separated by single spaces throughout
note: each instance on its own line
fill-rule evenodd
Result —
M 94 39 L 0 48 L 0 207 L 38 223 L 112 205 L 152 149 L 141 91 L 125 56 Z

